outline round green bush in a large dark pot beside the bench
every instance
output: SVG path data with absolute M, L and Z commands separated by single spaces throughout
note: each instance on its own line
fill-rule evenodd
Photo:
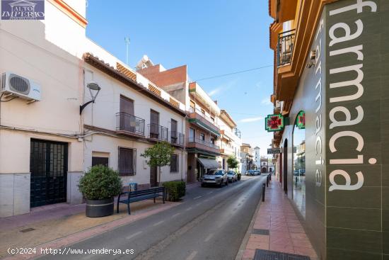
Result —
M 122 191 L 122 180 L 112 168 L 96 165 L 81 177 L 79 189 L 86 198 L 86 216 L 104 217 L 113 214 L 113 198 Z

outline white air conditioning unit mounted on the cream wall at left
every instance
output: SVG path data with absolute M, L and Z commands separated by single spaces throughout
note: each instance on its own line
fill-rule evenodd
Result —
M 11 72 L 1 74 L 1 94 L 12 94 L 28 101 L 40 101 L 40 86 L 31 79 L 26 79 Z

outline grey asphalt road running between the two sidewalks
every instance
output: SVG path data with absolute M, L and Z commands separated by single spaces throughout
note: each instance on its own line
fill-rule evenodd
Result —
M 235 259 L 265 180 L 265 176 L 252 176 L 223 188 L 191 188 L 183 203 L 170 210 L 70 247 L 83 249 L 82 254 L 48 254 L 40 259 Z M 134 254 L 85 253 L 103 248 L 133 249 Z

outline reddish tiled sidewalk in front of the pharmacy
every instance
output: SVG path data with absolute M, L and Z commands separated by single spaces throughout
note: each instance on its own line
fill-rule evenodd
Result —
M 254 225 L 250 227 L 250 235 L 242 259 L 254 259 L 256 249 L 263 249 L 309 256 L 310 260 L 318 260 L 291 201 L 286 198 L 279 181 L 272 177 L 273 181 L 270 181 L 265 191 L 265 202 L 261 202 L 260 209 L 253 218 Z M 268 251 L 257 251 L 257 256 L 260 253 L 272 254 Z

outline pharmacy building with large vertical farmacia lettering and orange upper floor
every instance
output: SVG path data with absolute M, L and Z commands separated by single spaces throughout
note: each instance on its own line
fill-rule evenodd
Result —
M 279 128 L 277 175 L 320 259 L 389 257 L 388 10 L 380 0 L 269 0 L 267 125 Z

